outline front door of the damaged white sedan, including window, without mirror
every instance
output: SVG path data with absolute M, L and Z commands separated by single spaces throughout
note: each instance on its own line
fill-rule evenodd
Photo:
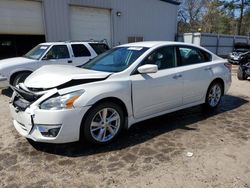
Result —
M 182 105 L 182 75 L 176 67 L 175 47 L 162 47 L 142 63 L 158 65 L 158 72 L 131 75 L 135 118 L 144 118 Z M 141 66 L 140 65 L 140 66 Z

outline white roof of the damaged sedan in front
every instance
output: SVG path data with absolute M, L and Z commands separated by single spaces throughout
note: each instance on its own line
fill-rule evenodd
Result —
M 144 42 L 135 42 L 135 43 L 128 43 L 123 44 L 118 47 L 146 47 L 146 48 L 152 48 L 152 47 L 160 47 L 164 45 L 187 45 L 187 46 L 193 46 L 193 47 L 199 47 L 194 44 L 190 43 L 183 43 L 183 42 L 173 42 L 173 41 L 144 41 Z

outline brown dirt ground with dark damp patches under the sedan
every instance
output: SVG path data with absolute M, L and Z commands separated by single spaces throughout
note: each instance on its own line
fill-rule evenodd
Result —
M 233 78 L 214 113 L 198 106 L 145 121 L 105 147 L 29 143 L 2 93 L 0 187 L 250 188 L 250 80 Z

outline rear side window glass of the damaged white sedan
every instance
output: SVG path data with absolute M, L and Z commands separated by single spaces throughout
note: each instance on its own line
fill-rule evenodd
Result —
M 179 55 L 179 66 L 193 65 L 212 60 L 212 56 L 209 53 L 195 47 L 179 47 Z

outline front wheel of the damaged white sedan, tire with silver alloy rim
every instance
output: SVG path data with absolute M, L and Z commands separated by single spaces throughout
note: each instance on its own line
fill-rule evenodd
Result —
M 111 117 L 113 121 L 108 122 Z M 103 122 L 105 119 L 106 123 Z M 92 107 L 83 120 L 81 139 L 91 144 L 108 144 L 118 137 L 124 124 L 125 115 L 119 105 L 112 102 L 100 103 Z

